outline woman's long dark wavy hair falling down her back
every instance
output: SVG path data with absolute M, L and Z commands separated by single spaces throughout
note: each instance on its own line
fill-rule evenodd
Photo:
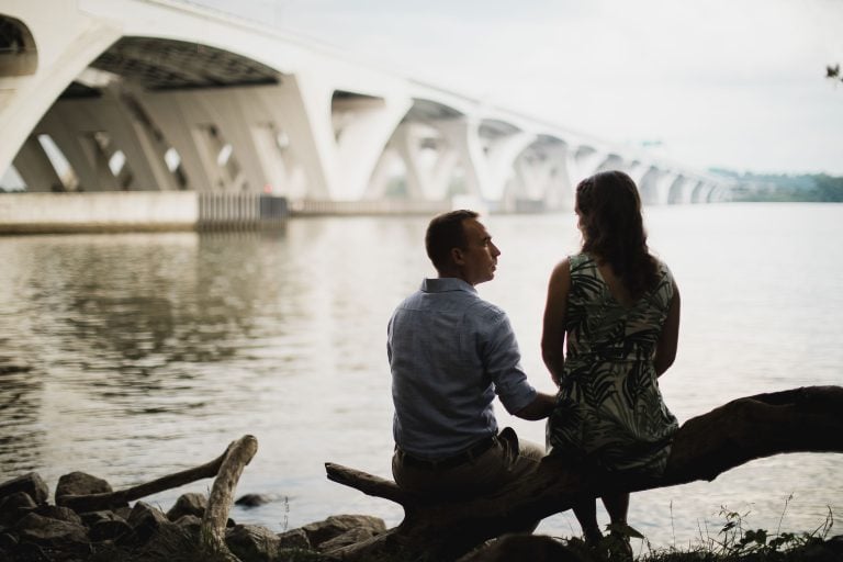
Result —
M 583 251 L 606 261 L 634 299 L 654 289 L 659 267 L 647 247 L 641 198 L 632 178 L 604 171 L 576 187 Z

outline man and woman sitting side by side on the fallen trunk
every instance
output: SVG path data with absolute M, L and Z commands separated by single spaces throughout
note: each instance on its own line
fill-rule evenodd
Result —
M 678 425 L 657 378 L 676 353 L 676 283 L 648 250 L 638 189 L 626 173 L 582 181 L 576 215 L 582 251 L 553 270 L 543 319 L 555 396 L 530 385 L 506 314 L 477 295 L 501 256 L 477 213 L 430 222 L 425 244 L 438 277 L 425 279 L 389 324 L 392 470 L 403 491 L 480 497 L 538 469 L 546 448 L 498 430 L 495 395 L 517 417 L 548 418 L 549 454 L 609 474 L 664 470 Z M 628 493 L 603 502 L 614 524 L 626 524 Z M 595 498 L 576 501 L 574 513 L 586 542 L 597 543 Z

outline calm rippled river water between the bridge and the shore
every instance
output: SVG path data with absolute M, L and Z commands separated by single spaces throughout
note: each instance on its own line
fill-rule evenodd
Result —
M 745 395 L 843 384 L 843 205 L 650 207 L 651 248 L 683 295 L 662 390 L 681 422 Z M 0 238 L 0 480 L 80 470 L 115 488 L 204 463 L 251 434 L 240 522 L 273 530 L 340 513 L 401 519 L 325 479 L 338 462 L 390 475 L 385 325 L 432 270 L 425 218 L 291 220 L 281 231 Z M 497 277 L 479 286 L 518 335 L 533 384 L 553 265 L 576 251 L 573 213 L 492 215 Z M 543 441 L 543 424 L 502 425 Z M 653 547 L 717 539 L 721 507 L 749 528 L 812 530 L 843 513 L 843 458 L 787 454 L 712 483 L 634 494 Z M 167 509 L 203 481 L 149 498 Z M 605 518 L 605 515 L 603 516 Z M 570 514 L 541 532 L 571 536 Z

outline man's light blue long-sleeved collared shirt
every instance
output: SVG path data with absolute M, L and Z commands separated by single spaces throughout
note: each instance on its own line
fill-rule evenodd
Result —
M 386 352 L 393 436 L 416 457 L 450 457 L 496 434 L 495 394 L 512 414 L 537 396 L 506 314 L 461 279 L 425 279 L 393 313 Z

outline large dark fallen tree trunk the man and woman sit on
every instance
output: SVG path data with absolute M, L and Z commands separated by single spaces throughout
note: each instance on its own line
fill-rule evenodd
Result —
M 404 520 L 339 554 L 346 561 L 454 560 L 485 540 L 570 509 L 583 494 L 637 492 L 711 481 L 753 459 L 785 452 L 843 452 L 843 387 L 809 386 L 732 401 L 687 420 L 657 479 L 596 475 L 546 458 L 529 477 L 485 497 L 430 503 L 391 481 L 327 463 L 328 479 L 404 507 Z

